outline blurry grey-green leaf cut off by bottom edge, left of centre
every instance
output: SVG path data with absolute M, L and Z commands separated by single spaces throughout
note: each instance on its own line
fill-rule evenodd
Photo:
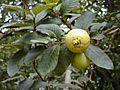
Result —
M 19 83 L 19 88 L 20 90 L 30 90 L 30 87 L 32 86 L 33 83 L 34 83 L 34 80 L 32 79 L 29 79 L 29 78 L 24 79 Z

